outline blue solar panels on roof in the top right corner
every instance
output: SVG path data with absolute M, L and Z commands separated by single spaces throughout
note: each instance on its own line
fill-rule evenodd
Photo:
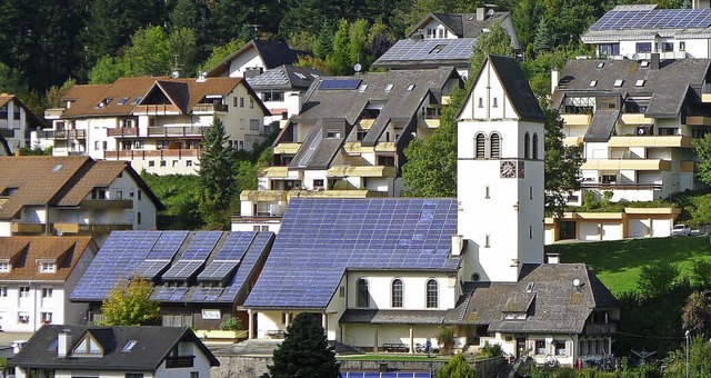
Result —
M 590 27 L 597 30 L 692 29 L 711 26 L 711 9 L 609 11 Z

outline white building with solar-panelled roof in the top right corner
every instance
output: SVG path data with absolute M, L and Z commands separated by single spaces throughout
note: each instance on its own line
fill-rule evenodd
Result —
M 617 6 L 580 39 L 594 44 L 598 58 L 649 60 L 711 58 L 711 9 L 657 9 L 657 4 Z M 697 7 L 698 6 L 698 7 Z

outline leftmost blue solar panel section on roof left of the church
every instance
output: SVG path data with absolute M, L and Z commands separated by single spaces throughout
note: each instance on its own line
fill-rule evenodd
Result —
M 101 301 L 131 277 L 160 237 L 157 231 L 113 231 L 70 295 L 72 300 Z

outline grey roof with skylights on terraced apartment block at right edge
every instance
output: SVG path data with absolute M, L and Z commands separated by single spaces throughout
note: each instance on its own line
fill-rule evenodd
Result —
M 610 96 L 619 93 L 622 99 L 634 96 L 651 96 L 645 116 L 650 118 L 675 118 L 690 94 L 701 98 L 702 84 L 710 78 L 710 59 L 662 60 L 659 69 L 634 60 L 569 60 L 563 68 L 558 89 L 553 93 L 552 109 L 559 109 L 563 96 Z M 601 66 L 601 67 L 599 67 Z M 591 87 L 591 81 L 597 84 Z M 615 80 L 624 80 L 615 87 Z M 644 80 L 643 86 L 637 86 Z

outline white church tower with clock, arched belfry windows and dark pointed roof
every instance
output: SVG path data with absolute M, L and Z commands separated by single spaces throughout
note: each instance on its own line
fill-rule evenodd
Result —
M 543 262 L 544 119 L 518 61 L 489 56 L 458 117 L 465 280 L 517 282 Z

